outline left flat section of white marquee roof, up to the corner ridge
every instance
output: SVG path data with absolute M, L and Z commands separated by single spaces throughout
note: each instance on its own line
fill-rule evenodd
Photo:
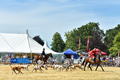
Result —
M 27 34 L 0 33 L 0 52 L 30 52 Z

